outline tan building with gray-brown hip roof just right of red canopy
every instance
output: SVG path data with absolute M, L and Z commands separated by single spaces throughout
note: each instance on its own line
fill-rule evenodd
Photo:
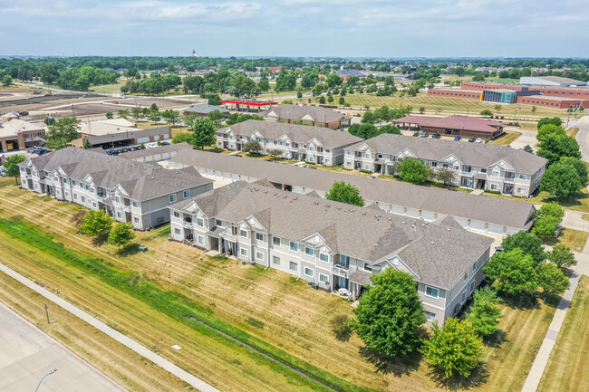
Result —
M 260 113 L 266 120 L 284 120 L 291 123 L 306 123 L 315 127 L 339 129 L 349 127 L 352 117 L 343 115 L 339 111 L 325 109 L 319 106 L 294 105 L 284 103 Z

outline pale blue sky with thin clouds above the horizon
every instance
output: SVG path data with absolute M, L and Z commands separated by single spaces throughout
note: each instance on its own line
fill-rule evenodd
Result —
M 2 55 L 589 57 L 587 0 L 0 0 Z

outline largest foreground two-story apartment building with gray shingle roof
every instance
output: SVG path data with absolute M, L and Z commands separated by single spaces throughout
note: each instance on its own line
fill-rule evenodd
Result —
M 237 182 L 170 209 L 171 236 L 358 298 L 373 273 L 409 272 L 428 320 L 456 314 L 484 279 L 491 238 L 261 183 Z

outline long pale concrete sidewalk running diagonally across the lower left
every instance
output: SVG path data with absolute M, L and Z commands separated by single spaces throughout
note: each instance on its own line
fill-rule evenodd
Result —
M 188 373 L 186 370 L 179 368 L 178 366 L 171 363 L 168 359 L 160 357 L 155 352 L 140 345 L 140 343 L 138 343 L 137 341 L 123 335 L 118 330 L 113 330 L 111 327 L 103 323 L 101 320 L 98 320 L 95 317 L 92 317 L 90 314 L 86 313 L 85 311 L 82 311 L 80 308 L 73 306 L 70 302 L 65 301 L 57 295 L 53 294 L 53 292 L 49 292 L 48 290 L 43 289 L 43 287 L 41 287 L 40 285 L 25 278 L 20 273 L 8 268 L 3 263 L 0 263 L 0 271 L 5 272 L 8 276 L 14 278 L 16 281 L 23 283 L 28 288 L 34 290 L 34 292 L 38 292 L 39 294 L 43 295 L 43 297 L 45 297 L 47 300 L 52 301 L 56 305 L 62 307 L 64 310 L 69 311 L 73 315 L 86 321 L 87 323 L 92 325 L 92 327 L 96 328 L 97 330 L 100 330 L 101 332 L 104 332 L 112 339 L 117 340 L 127 348 L 132 349 L 133 351 L 145 357 L 146 359 L 149 359 L 151 362 L 155 363 L 159 367 L 168 370 L 171 374 L 187 382 L 192 387 L 196 387 L 201 392 L 220 392 L 217 388 L 211 387 L 200 378 L 196 378 L 195 376 Z

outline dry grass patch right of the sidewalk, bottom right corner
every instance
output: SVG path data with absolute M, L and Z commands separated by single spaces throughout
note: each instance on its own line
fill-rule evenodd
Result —
M 538 392 L 586 391 L 589 386 L 589 278 L 581 276 L 550 354 Z

